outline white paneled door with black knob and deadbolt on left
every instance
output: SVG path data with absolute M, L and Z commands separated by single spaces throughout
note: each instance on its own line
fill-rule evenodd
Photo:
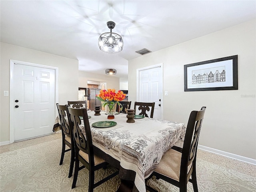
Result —
M 14 64 L 13 80 L 14 141 L 52 133 L 55 70 Z

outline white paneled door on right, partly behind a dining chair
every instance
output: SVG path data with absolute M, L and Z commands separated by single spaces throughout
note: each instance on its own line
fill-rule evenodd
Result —
M 138 69 L 138 102 L 155 102 L 153 118 L 162 119 L 162 65 Z

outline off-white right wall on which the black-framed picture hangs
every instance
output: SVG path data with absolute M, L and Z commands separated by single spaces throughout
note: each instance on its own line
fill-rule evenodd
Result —
M 199 144 L 256 159 L 256 21 L 242 23 L 129 61 L 129 100 L 136 69 L 164 65 L 164 119 L 188 122 L 206 106 Z M 175 38 L 175 37 L 173 37 Z M 238 90 L 184 92 L 184 65 L 238 55 Z

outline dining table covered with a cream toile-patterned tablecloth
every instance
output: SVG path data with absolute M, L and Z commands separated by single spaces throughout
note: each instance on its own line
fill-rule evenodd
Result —
M 116 112 L 114 119 L 109 120 L 105 111 L 97 116 L 94 111 L 87 113 L 94 153 L 117 167 L 120 179 L 132 183 L 133 192 L 146 192 L 145 179 L 155 170 L 163 154 L 174 145 L 182 147 L 184 141 L 184 123 L 144 116 L 128 123 L 127 114 Z M 57 117 L 54 132 L 60 130 L 58 123 Z M 83 121 L 80 128 L 85 134 Z

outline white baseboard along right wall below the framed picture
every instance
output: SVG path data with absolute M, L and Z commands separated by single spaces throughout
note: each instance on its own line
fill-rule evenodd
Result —
M 216 154 L 219 154 L 219 155 L 222 155 L 222 156 L 226 156 L 226 157 L 229 157 L 229 158 L 232 158 L 232 159 L 236 159 L 236 160 L 240 160 L 240 161 L 243 161 L 243 162 L 246 162 L 246 163 L 256 165 L 256 160 L 255 159 L 251 159 L 251 158 L 248 158 L 248 157 L 228 153 L 228 152 L 225 152 L 225 151 L 221 151 L 221 150 L 218 150 L 218 149 L 214 149 L 214 148 L 210 148 L 210 147 L 206 147 L 206 146 L 202 146 L 202 145 L 198 145 L 198 148 L 202 149 L 202 150 L 205 150 L 205 151 L 208 151 L 208 152 L 216 153 Z

